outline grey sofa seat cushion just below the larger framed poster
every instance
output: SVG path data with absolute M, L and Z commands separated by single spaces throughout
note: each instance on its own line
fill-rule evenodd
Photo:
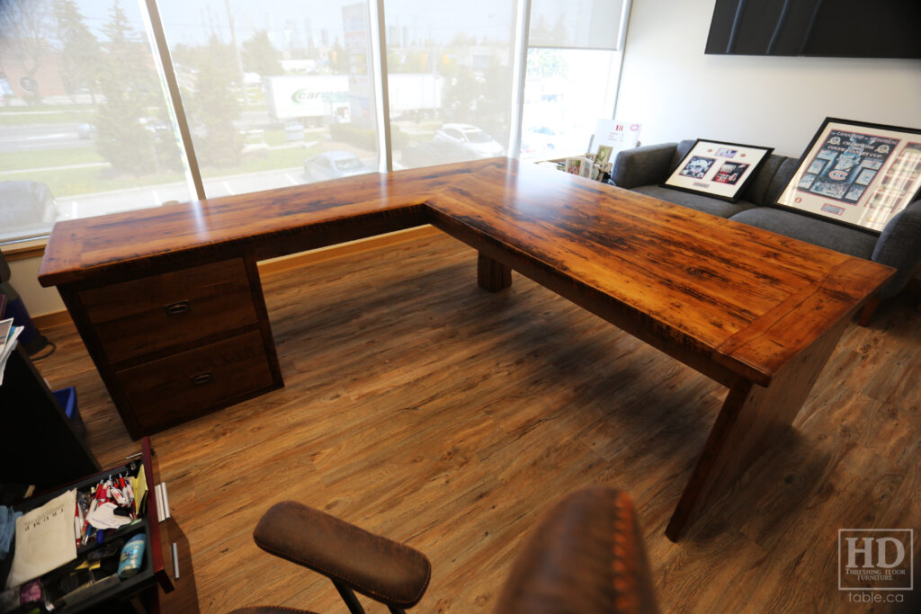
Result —
M 729 219 L 866 260 L 876 247 L 875 235 L 773 207 L 755 207 Z

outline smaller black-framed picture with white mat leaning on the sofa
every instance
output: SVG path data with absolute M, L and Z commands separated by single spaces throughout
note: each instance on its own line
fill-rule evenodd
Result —
M 697 139 L 662 186 L 735 203 L 773 151 L 773 147 Z

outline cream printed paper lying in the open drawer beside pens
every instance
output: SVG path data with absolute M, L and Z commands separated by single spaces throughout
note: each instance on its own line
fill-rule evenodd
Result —
M 71 490 L 17 518 L 16 552 L 6 588 L 76 559 L 75 509 L 76 490 Z

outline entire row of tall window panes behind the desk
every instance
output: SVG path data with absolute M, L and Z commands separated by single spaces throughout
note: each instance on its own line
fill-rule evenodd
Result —
M 0 243 L 172 201 L 575 152 L 612 117 L 623 6 L 2 0 Z

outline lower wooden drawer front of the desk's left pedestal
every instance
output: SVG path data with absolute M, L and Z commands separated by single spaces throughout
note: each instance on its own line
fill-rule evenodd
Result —
M 274 383 L 259 330 L 122 369 L 115 377 L 146 433 Z

